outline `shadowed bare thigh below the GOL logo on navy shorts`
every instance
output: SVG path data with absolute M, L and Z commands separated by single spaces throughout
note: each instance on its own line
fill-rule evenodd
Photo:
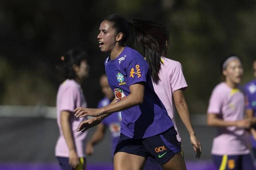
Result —
M 185 161 L 180 152 L 177 153 L 171 160 L 169 160 L 162 167 L 164 170 L 186 170 Z

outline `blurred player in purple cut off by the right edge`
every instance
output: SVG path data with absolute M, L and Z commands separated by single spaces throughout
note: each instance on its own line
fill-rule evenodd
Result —
M 256 78 L 256 60 L 253 61 L 253 75 Z M 254 156 L 256 157 L 256 79 L 248 82 L 244 86 L 245 96 L 246 96 L 246 115 L 248 118 L 252 118 L 252 124 L 254 125 L 251 128 L 251 142 L 252 150 Z

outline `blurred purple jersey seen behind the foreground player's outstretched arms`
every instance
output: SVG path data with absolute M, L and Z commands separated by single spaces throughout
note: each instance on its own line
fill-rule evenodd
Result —
M 107 106 L 110 103 L 111 103 L 111 101 L 105 97 L 99 101 L 98 108 Z M 102 121 L 102 124 L 107 126 L 111 132 L 112 155 L 114 155 L 116 144 L 117 144 L 118 138 L 120 136 L 121 121 L 122 121 L 121 112 L 115 112 Z

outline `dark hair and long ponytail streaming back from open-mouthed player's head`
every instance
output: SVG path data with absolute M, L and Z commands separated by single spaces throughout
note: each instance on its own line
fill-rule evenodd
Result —
M 112 14 L 104 20 L 109 21 L 116 33 L 123 33 L 124 43 L 132 32 L 135 46 L 142 47 L 146 61 L 148 62 L 152 80 L 159 82 L 159 70 L 161 69 L 161 56 L 167 54 L 167 42 L 169 32 L 161 23 L 131 19 L 129 22 L 122 16 Z

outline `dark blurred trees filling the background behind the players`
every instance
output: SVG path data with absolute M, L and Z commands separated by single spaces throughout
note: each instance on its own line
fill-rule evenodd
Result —
M 191 113 L 206 112 L 211 91 L 221 81 L 219 63 L 226 55 L 240 56 L 244 82 L 253 79 L 253 0 L 11 0 L 0 4 L 0 104 L 54 106 L 62 81 L 55 65 L 66 50 L 79 46 L 90 54 L 90 78 L 83 89 L 89 106 L 95 107 L 102 97 L 98 78 L 108 55 L 99 51 L 96 36 L 102 19 L 112 13 L 168 26 L 167 57 L 183 65 Z

